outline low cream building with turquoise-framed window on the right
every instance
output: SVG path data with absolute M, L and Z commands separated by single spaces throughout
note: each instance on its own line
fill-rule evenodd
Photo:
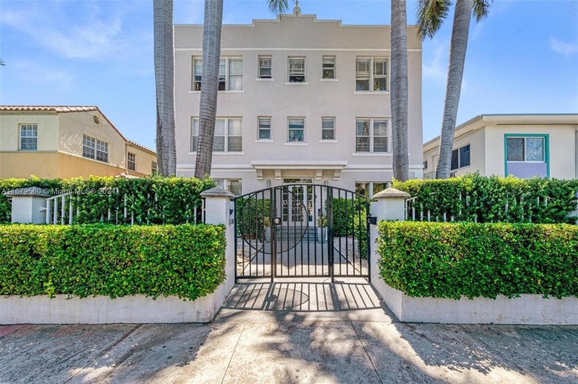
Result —
M 440 137 L 423 144 L 424 177 L 434 179 Z M 578 114 L 479 115 L 456 128 L 453 176 L 578 178 Z

